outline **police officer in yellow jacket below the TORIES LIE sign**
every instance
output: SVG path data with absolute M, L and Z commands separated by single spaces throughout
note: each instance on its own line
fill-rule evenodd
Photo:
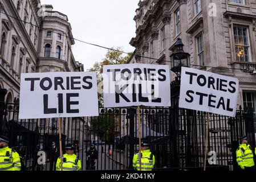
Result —
M 81 169 L 81 161 L 79 160 L 78 156 L 74 154 L 74 144 L 66 144 L 65 150 L 66 154 L 62 156 L 63 171 L 79 171 Z M 56 171 L 61 171 L 60 157 L 56 162 Z

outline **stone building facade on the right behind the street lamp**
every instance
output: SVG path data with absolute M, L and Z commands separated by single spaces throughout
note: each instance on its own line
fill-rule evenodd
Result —
M 135 56 L 129 63 L 170 65 L 181 38 L 192 68 L 237 77 L 238 108 L 256 112 L 255 0 L 144 0 L 138 5 L 130 44 L 137 55 L 156 60 Z

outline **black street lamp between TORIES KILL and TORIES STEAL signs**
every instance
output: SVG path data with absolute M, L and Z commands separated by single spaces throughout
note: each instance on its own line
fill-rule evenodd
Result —
M 190 54 L 184 52 L 184 44 L 181 42 L 181 39 L 178 38 L 175 43 L 176 52 L 170 55 L 171 71 L 176 73 L 180 77 L 181 67 L 190 67 Z

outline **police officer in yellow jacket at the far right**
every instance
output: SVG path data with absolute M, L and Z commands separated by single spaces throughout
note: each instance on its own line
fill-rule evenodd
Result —
M 247 137 L 239 138 L 239 147 L 237 149 L 237 163 L 242 170 L 254 171 L 253 151 L 248 144 Z

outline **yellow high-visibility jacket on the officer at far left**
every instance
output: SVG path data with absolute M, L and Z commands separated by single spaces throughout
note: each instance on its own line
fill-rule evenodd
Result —
M 0 171 L 21 171 L 18 152 L 9 147 L 0 148 Z

